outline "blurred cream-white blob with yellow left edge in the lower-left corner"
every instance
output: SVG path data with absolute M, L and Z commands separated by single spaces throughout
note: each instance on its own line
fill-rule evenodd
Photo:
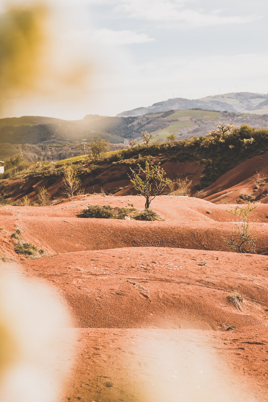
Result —
M 0 400 L 55 402 L 74 358 L 69 314 L 42 281 L 0 269 Z

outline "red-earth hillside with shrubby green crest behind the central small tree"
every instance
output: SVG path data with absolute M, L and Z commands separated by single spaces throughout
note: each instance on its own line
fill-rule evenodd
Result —
M 65 163 L 76 165 L 84 193 L 135 195 L 130 168 L 145 161 L 160 162 L 171 179 L 188 177 L 190 194 L 196 197 L 213 202 L 268 202 L 268 129 L 248 125 L 227 134 L 217 131 L 205 137 L 106 152 L 100 158 L 82 155 L 53 164 L 37 162 L 15 170 L 11 177 L 2 175 L 6 178 L 0 180 L 0 197 L 3 202 L 25 195 L 34 200 L 40 186 L 46 187 L 53 199 L 59 197 Z

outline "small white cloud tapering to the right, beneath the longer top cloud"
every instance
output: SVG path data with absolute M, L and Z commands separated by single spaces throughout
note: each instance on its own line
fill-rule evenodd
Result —
M 154 41 L 145 33 L 136 33 L 134 31 L 113 31 L 112 29 L 98 29 L 92 35 L 92 38 L 105 44 L 111 45 L 129 45 L 131 43 L 144 43 Z

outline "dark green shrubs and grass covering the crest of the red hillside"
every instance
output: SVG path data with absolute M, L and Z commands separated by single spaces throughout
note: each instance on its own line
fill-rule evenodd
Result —
M 217 129 L 201 137 L 190 137 L 180 141 L 157 144 L 139 144 L 119 151 L 100 153 L 100 156 L 80 156 L 53 163 L 37 161 L 29 164 L 21 159 L 16 164 L 15 156 L 6 162 L 6 172 L 0 174 L 0 179 L 7 177 L 45 177 L 63 176 L 64 165 L 76 165 L 80 178 L 91 175 L 94 177 L 107 169 L 109 165 L 126 165 L 135 168 L 140 164 L 145 167 L 153 158 L 160 155 L 160 164 L 166 162 L 197 161 L 204 165 L 200 182 L 195 186 L 201 190 L 215 182 L 219 176 L 226 173 L 245 160 L 268 150 L 268 128 L 254 128 L 249 125 L 235 127 L 220 123 Z M 67 162 L 68 161 L 68 162 Z M 26 166 L 27 165 L 27 166 Z M 126 174 L 127 178 L 127 174 Z

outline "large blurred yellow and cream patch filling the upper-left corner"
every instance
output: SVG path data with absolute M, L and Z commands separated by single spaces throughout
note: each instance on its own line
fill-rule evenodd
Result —
M 72 16 L 63 8 L 44 0 L 2 9 L 0 117 L 42 108 L 44 115 L 51 104 L 55 111 L 79 109 L 90 96 L 94 56 L 76 43 Z

